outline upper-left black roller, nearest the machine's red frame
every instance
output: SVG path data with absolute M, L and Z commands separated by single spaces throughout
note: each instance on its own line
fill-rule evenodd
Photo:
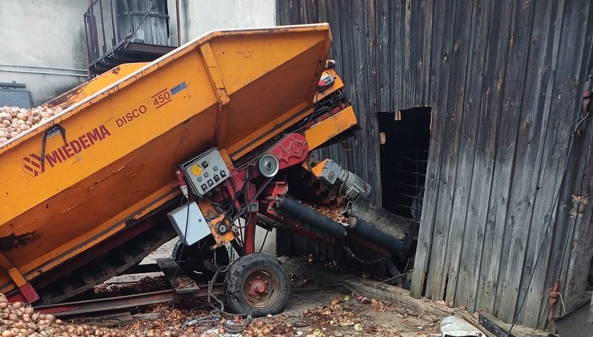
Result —
M 322 216 L 316 211 L 313 211 L 309 207 L 300 204 L 300 202 L 290 199 L 289 197 L 280 197 L 277 205 L 278 211 L 288 214 L 289 216 L 298 219 L 298 221 L 317 228 L 334 238 L 341 238 L 346 234 L 346 228 L 344 228 L 344 226 L 327 216 Z

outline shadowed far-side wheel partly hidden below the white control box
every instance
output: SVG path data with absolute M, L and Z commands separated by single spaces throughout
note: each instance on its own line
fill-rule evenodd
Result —
M 178 240 L 173 247 L 171 256 L 177 261 L 181 269 L 197 282 L 204 284 L 212 280 L 214 276 L 214 254 L 216 254 L 216 263 L 219 267 L 229 265 L 229 252 L 226 247 L 219 247 L 216 250 L 210 249 L 214 245 L 212 234 L 193 245 L 184 245 L 183 241 Z

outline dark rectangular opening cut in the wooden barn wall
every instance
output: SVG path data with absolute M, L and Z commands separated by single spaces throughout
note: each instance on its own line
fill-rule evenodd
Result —
M 379 113 L 383 208 L 420 222 L 428 147 L 430 106 Z

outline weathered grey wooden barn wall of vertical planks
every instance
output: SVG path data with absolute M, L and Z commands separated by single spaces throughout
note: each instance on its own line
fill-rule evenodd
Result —
M 572 143 L 571 131 L 592 71 L 591 1 L 277 5 L 278 24 L 330 23 L 363 126 L 351 150 L 324 155 L 379 186 L 375 114 L 432 106 L 413 296 L 504 321 L 522 306 L 518 323 L 540 328 L 556 280 L 568 311 L 582 301 L 593 125 Z

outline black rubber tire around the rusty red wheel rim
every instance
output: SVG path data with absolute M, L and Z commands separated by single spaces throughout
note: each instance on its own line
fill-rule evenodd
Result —
M 276 302 L 267 308 L 259 309 L 249 305 L 243 296 L 243 282 L 254 270 L 264 268 L 278 277 L 280 294 Z M 224 293 L 229 308 L 237 314 L 251 314 L 253 317 L 278 314 L 283 311 L 290 296 L 288 273 L 275 256 L 266 253 L 252 253 L 241 256 L 232 263 L 224 280 Z

